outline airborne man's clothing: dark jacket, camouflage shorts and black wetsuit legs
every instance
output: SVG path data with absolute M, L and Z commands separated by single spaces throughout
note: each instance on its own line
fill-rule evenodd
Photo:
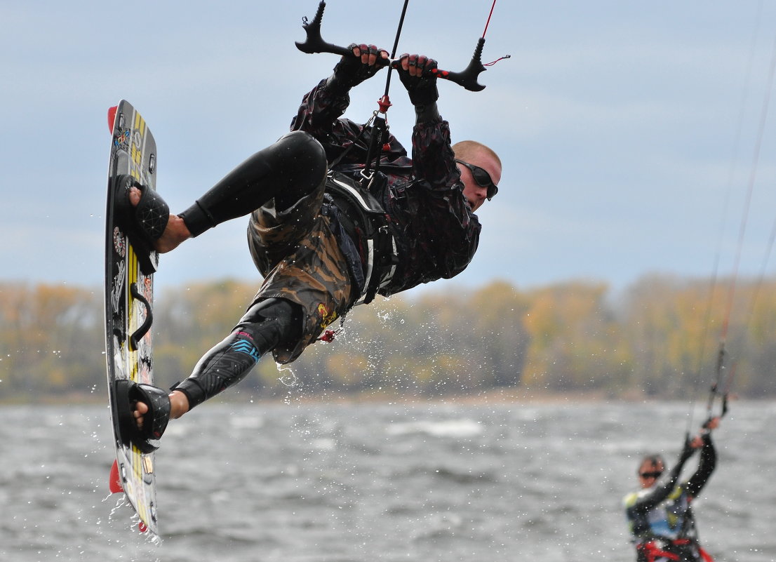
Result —
M 265 352 L 272 350 L 279 363 L 293 361 L 362 294 L 354 268 L 365 273 L 365 241 L 358 224 L 344 228 L 338 210 L 327 210 L 337 203 L 325 197 L 324 175 L 338 159 L 333 170 L 358 179 L 369 131 L 362 135 L 361 126 L 339 119 L 348 95 L 328 91 L 326 83 L 304 97 L 291 133 L 248 158 L 181 214 L 196 236 L 251 213 L 251 254 L 265 276 L 234 331 L 178 384 L 190 408 L 237 383 Z M 457 275 L 479 243 L 480 223 L 463 196 L 448 123 L 433 113 L 419 119 L 412 142 L 410 159 L 389 138 L 369 188 L 389 217 L 396 246 L 392 275 L 379 288 L 383 295 Z

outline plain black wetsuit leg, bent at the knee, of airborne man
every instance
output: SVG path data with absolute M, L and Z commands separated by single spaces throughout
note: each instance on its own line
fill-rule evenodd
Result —
M 326 153 L 310 134 L 293 131 L 229 172 L 180 213 L 192 236 L 226 220 L 244 217 L 273 197 L 287 209 L 324 182 Z

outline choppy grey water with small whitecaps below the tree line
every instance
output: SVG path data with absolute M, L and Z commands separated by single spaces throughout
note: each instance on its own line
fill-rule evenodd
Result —
M 0 560 L 634 560 L 639 456 L 688 404 L 205 404 L 157 454 L 161 544 L 111 515 L 106 408 L 0 408 Z M 698 414 L 700 417 L 701 414 Z M 718 562 L 776 559 L 776 404 L 734 403 L 696 504 Z M 691 461 L 694 463 L 695 461 Z

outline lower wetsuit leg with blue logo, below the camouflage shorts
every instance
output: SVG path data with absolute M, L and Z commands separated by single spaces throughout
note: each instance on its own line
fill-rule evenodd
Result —
M 299 338 L 301 308 L 289 300 L 269 298 L 248 309 L 232 333 L 210 349 L 188 379 L 174 390 L 189 398 L 189 409 L 240 382 L 258 359 L 281 342 Z

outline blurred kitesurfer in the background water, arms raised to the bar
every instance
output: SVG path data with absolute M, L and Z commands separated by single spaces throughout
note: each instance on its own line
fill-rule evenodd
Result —
M 666 463 L 660 455 L 644 456 L 639 463 L 641 489 L 625 496 L 625 515 L 636 545 L 638 562 L 711 562 L 712 558 L 698 543 L 698 529 L 691 509 L 716 466 L 712 429 L 719 418 L 710 418 L 701 435 L 684 443 L 677 465 L 665 473 Z M 700 449 L 698 470 L 688 480 L 677 484 L 684 463 Z

